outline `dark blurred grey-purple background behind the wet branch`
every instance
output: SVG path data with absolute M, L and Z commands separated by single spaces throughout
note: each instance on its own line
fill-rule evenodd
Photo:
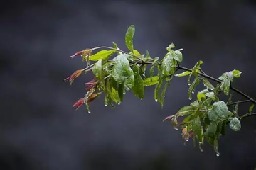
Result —
M 254 1 L 6 1 L 0 9 L 1 170 L 256 167 L 256 116 L 220 138 L 220 157 L 207 144 L 204 152 L 191 141 L 185 147 L 181 131 L 162 123 L 188 105 L 185 78 L 171 81 L 163 109 L 149 87 L 143 101 L 127 93 L 115 109 L 97 98 L 91 114 L 72 105 L 92 74 L 72 86 L 63 82 L 85 67 L 70 55 L 112 41 L 125 50 L 124 34 L 134 24 L 137 50 L 163 57 L 174 42 L 184 49 L 185 67 L 203 60 L 213 77 L 240 69 L 234 85 L 256 98 Z

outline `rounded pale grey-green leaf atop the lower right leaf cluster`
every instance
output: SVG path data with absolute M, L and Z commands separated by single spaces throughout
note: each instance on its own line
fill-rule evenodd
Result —
M 228 106 L 224 101 L 215 101 L 213 103 L 213 111 L 215 111 L 219 118 L 224 120 L 228 118 Z

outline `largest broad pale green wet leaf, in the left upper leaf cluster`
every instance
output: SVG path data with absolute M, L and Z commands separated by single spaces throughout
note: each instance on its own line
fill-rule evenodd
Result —
M 134 72 L 129 66 L 127 57 L 129 55 L 118 55 L 114 61 L 114 67 L 112 69 L 112 77 L 118 84 L 124 84 L 126 89 L 131 89 L 134 86 Z

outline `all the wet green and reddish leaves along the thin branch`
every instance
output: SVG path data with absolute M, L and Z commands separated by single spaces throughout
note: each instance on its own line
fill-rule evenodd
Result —
M 73 107 L 78 109 L 85 104 L 90 113 L 89 103 L 104 94 L 105 106 L 110 105 L 114 108 L 115 103 L 120 104 L 123 101 L 126 91 L 132 91 L 139 99 L 143 99 L 144 86 L 155 86 L 154 99 L 163 107 L 164 96 L 171 79 L 188 76 L 189 100 L 192 99 L 192 94 L 195 93 L 198 84 L 202 83 L 206 89 L 197 93 L 196 100 L 191 102 L 190 106 L 182 107 L 176 114 L 170 115 L 164 120 L 170 120 L 175 129 L 181 128 L 185 141 L 192 138 L 193 141 L 198 141 L 201 149 L 201 145 L 206 140 L 219 155 L 218 139 L 221 135 L 225 135 L 226 125 L 229 124 L 232 130 L 238 131 L 241 128 L 240 119 L 242 117 L 238 116 L 238 103 L 233 111 L 230 111 L 231 100 L 221 101 L 218 94 L 223 91 L 225 95 L 230 95 L 230 83 L 234 78 L 240 77 L 242 72 L 239 70 L 225 72 L 219 77 L 219 83 L 213 86 L 208 81 L 208 75 L 201 69 L 203 61 L 197 62 L 192 69 L 181 67 L 182 49 L 174 50 L 173 43 L 166 48 L 167 53 L 161 60 L 159 57 L 150 57 L 149 52 L 141 55 L 138 50 L 134 49 L 134 33 L 134 26 L 129 26 L 125 35 L 125 44 L 129 52 L 120 50 L 113 42 L 113 47 L 95 47 L 76 52 L 71 56 L 81 56 L 82 61 L 87 62 L 87 67 L 77 70 L 65 81 L 70 81 L 72 84 L 82 72 L 92 71 L 95 75 L 92 81 L 85 84 L 87 89 L 85 96 L 80 98 Z M 99 49 L 105 50 L 95 52 Z M 94 63 L 90 64 L 90 62 Z M 145 73 L 149 65 L 149 77 L 146 77 Z M 155 69 L 157 70 L 156 74 L 154 73 Z M 185 72 L 176 74 L 179 69 L 185 70 Z M 249 113 L 252 113 L 252 109 L 253 105 L 250 107 Z M 183 120 L 178 121 L 181 117 Z

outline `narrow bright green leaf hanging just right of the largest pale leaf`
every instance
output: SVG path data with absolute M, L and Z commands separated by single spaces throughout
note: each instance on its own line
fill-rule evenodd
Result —
M 138 98 L 144 98 L 144 83 L 142 77 L 139 75 L 139 67 L 134 65 L 133 67 L 134 72 L 134 86 L 132 87 L 132 92 Z

